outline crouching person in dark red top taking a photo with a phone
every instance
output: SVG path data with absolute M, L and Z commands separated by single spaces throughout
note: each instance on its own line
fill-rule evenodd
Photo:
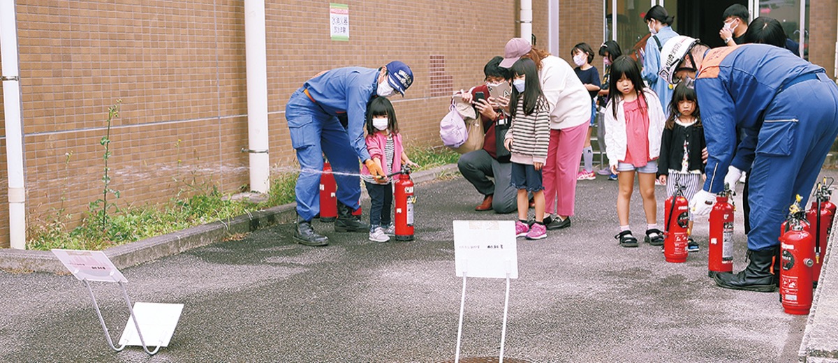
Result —
M 483 148 L 473 152 L 464 153 L 457 161 L 457 167 L 463 178 L 468 180 L 480 194 L 484 195 L 483 203 L 474 210 L 494 210 L 495 213 L 511 213 L 515 210 L 516 189 L 510 184 L 512 175 L 512 164 L 510 154 L 502 153 L 498 156 L 498 145 L 503 145 L 503 139 L 498 142 L 495 129 L 496 124 L 509 127 L 508 117 L 498 106 L 497 100 L 489 96 L 489 86 L 501 86 L 510 83 L 510 70 L 500 67 L 504 57 L 495 56 L 489 60 L 483 68 L 485 84 L 473 87 L 468 92 L 458 95 L 463 97 L 465 102 L 473 102 L 474 107 L 480 113 L 483 129 L 485 132 Z M 510 89 L 509 87 L 506 87 Z M 474 95 L 483 92 L 486 99 L 476 100 Z M 501 150 L 504 151 L 504 150 Z M 489 179 L 491 178 L 491 179 Z M 493 181 L 494 180 L 494 181 Z

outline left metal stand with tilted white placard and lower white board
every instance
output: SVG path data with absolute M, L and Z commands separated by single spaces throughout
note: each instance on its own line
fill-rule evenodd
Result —
M 184 304 L 136 303 L 136 305 L 132 306 L 131 298 L 128 298 L 128 292 L 125 288 L 125 283 L 128 282 L 127 278 L 113 265 L 104 252 L 58 249 L 52 251 L 64 263 L 65 267 L 70 270 L 73 276 L 85 283 L 87 292 L 90 293 L 91 300 L 93 301 L 93 308 L 96 309 L 96 316 L 99 317 L 99 323 L 105 333 L 107 344 L 111 346 L 112 350 L 121 351 L 127 345 L 142 345 L 142 350 L 145 350 L 148 355 L 154 355 L 160 350 L 160 347 L 168 346 L 168 342 L 174 334 L 174 328 L 178 324 L 178 319 L 180 319 L 180 313 L 184 308 Z M 111 334 L 107 329 L 105 319 L 102 318 L 99 303 L 96 302 L 96 295 L 94 295 L 93 288 L 91 288 L 91 281 L 116 283 L 122 289 L 122 295 L 125 297 L 125 303 L 127 303 L 131 319 L 127 321 L 126 328 L 122 331 L 119 348 L 113 345 L 113 340 L 111 340 Z M 137 319 L 137 315 L 140 315 L 142 319 Z M 140 329 L 141 320 L 143 329 Z M 146 336 L 142 335 L 142 330 L 146 331 Z M 134 339 L 134 334 L 137 334 L 139 338 L 138 342 Z M 156 345 L 154 350 L 148 349 L 146 338 L 150 338 L 149 342 Z

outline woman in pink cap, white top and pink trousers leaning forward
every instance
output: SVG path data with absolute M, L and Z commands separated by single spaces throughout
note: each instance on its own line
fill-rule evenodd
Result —
M 565 228 L 571 226 L 576 202 L 577 169 L 591 119 L 591 97 L 565 60 L 534 48 L 525 39 L 506 43 L 500 66 L 510 68 L 521 58 L 535 61 L 550 110 L 550 146 L 541 172 L 547 214 L 544 223 L 548 230 Z

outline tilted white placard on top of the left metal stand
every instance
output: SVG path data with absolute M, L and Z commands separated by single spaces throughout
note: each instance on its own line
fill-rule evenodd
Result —
M 102 283 L 127 283 L 122 272 L 113 266 L 111 259 L 101 251 L 52 250 L 55 257 L 80 280 Z

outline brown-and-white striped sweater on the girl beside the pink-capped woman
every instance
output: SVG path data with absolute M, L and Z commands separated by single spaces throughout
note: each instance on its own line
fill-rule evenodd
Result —
M 550 112 L 541 100 L 530 115 L 524 113 L 524 99 L 518 100 L 515 117 L 506 138 L 512 139 L 510 153 L 513 163 L 546 163 L 550 146 Z

